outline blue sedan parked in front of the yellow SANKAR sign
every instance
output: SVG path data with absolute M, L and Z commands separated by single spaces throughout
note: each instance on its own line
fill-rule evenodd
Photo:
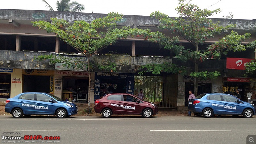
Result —
M 56 115 L 65 118 L 75 115 L 78 111 L 76 104 L 63 101 L 59 97 L 45 92 L 24 92 L 7 99 L 5 112 L 14 118 L 31 115 Z

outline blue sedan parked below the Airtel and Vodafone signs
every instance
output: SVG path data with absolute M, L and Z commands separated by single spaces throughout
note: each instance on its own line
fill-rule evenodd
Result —
M 253 104 L 225 93 L 203 93 L 188 101 L 188 109 L 196 116 L 212 117 L 214 114 L 251 118 L 255 115 Z

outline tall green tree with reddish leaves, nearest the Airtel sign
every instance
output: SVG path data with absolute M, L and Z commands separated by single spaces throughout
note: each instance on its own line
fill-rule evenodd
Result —
M 204 80 L 207 78 L 217 78 L 220 76 L 220 72 L 213 71 L 199 71 L 198 65 L 208 59 L 220 59 L 221 55 L 226 55 L 228 51 L 244 51 L 245 45 L 242 44 L 250 34 L 238 35 L 238 33 L 231 31 L 230 34 L 225 35 L 222 39 L 215 44 L 210 45 L 207 49 L 199 49 L 198 45 L 203 44 L 206 39 L 212 38 L 221 33 L 227 32 L 233 25 L 227 27 L 219 26 L 218 23 L 213 23 L 209 16 L 213 13 L 219 13 L 220 9 L 216 10 L 201 10 L 195 4 L 190 4 L 185 0 L 179 0 L 179 6 L 175 8 L 179 14 L 179 17 L 174 19 L 161 12 L 153 12 L 151 17 L 155 17 L 160 21 L 159 28 L 168 30 L 170 33 L 176 33 L 183 39 L 187 40 L 194 48 L 182 48 L 179 50 L 173 50 L 175 57 L 182 61 L 191 60 L 194 63 L 194 71 L 190 73 L 190 76 L 195 77 L 194 93 L 197 95 L 198 80 Z M 177 48 L 177 47 L 170 47 Z M 152 69 L 151 69 L 152 70 Z M 158 70 L 158 71 L 157 71 Z M 161 69 L 154 70 L 154 73 L 158 73 Z

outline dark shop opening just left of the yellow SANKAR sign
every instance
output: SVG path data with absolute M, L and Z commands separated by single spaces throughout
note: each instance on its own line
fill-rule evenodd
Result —
M 23 92 L 50 93 L 50 76 L 23 75 Z

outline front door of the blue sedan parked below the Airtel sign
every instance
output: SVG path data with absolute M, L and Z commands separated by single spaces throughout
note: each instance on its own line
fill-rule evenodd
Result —
M 238 103 L 238 99 L 227 94 L 222 95 L 224 102 L 224 112 L 225 114 L 241 114 L 242 104 Z

